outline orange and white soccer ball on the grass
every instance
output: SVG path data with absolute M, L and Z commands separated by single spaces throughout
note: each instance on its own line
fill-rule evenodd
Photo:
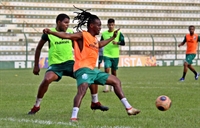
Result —
M 171 99 L 168 96 L 162 95 L 156 99 L 156 107 L 160 111 L 166 111 L 171 107 Z

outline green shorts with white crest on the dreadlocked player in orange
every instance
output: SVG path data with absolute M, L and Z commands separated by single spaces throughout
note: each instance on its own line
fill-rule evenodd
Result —
M 74 76 L 78 86 L 83 83 L 88 83 L 90 86 L 91 84 L 104 85 L 109 77 L 109 74 L 101 72 L 97 69 L 92 70 L 89 68 L 81 68 L 74 72 Z

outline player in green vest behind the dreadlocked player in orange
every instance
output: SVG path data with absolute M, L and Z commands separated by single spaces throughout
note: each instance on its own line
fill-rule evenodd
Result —
M 51 28 L 51 31 L 54 32 L 66 32 L 73 33 L 73 30 L 69 29 L 70 18 L 66 14 L 59 14 L 56 18 L 56 28 Z M 48 41 L 49 52 L 48 52 L 48 64 L 49 67 L 45 73 L 44 79 L 41 82 L 36 102 L 28 114 L 35 114 L 40 110 L 40 103 L 44 94 L 48 90 L 49 84 L 53 81 L 59 81 L 62 76 L 70 76 L 74 78 L 73 75 L 73 66 L 74 66 L 74 57 L 73 57 L 73 42 L 69 39 L 61 39 L 54 35 L 43 34 L 41 40 L 39 41 L 36 52 L 35 52 L 35 64 L 33 69 L 33 74 L 39 75 L 39 58 L 41 54 L 41 49 L 44 44 Z M 108 107 L 102 106 L 98 102 L 97 95 L 98 88 L 96 86 L 90 87 L 92 103 L 91 109 L 100 109 L 102 111 L 108 110 Z

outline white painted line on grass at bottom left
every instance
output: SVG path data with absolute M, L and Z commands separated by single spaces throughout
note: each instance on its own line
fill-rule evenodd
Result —
M 44 124 L 44 125 L 65 125 L 65 126 L 77 126 L 72 123 L 66 123 L 66 122 L 53 122 L 50 120 L 33 120 L 33 119 L 15 119 L 12 117 L 8 118 L 0 118 L 1 121 L 12 121 L 12 122 L 18 122 L 18 123 L 33 123 L 33 124 Z

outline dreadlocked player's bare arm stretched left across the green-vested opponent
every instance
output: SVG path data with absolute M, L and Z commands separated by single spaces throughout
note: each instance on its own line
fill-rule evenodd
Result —
M 60 37 L 60 38 L 63 38 L 63 39 L 70 39 L 70 40 L 78 40 L 78 39 L 83 38 L 83 34 L 81 32 L 77 32 L 77 33 L 74 33 L 74 34 L 68 34 L 66 32 L 53 32 L 50 29 L 45 28 L 43 30 L 43 33 L 52 34 L 54 36 L 57 36 L 57 37 Z

